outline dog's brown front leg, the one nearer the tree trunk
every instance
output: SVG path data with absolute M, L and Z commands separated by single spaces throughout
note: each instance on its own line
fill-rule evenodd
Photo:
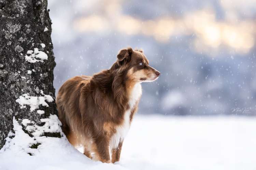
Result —
M 109 140 L 106 136 L 99 136 L 95 140 L 99 160 L 103 163 L 111 163 L 109 155 Z

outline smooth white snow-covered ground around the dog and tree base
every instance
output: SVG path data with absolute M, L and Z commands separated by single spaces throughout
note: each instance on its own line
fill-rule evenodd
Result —
M 255 129 L 254 117 L 136 115 L 118 163 L 94 162 L 65 138 L 52 138 L 39 145 L 34 156 L 18 150 L 1 152 L 0 169 L 252 170 L 256 169 Z

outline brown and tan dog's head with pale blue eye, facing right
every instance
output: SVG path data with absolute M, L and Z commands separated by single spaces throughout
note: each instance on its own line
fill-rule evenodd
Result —
M 120 50 L 112 68 L 125 71 L 127 79 L 135 82 L 152 82 L 160 76 L 160 72 L 149 65 L 143 51 L 132 48 Z

